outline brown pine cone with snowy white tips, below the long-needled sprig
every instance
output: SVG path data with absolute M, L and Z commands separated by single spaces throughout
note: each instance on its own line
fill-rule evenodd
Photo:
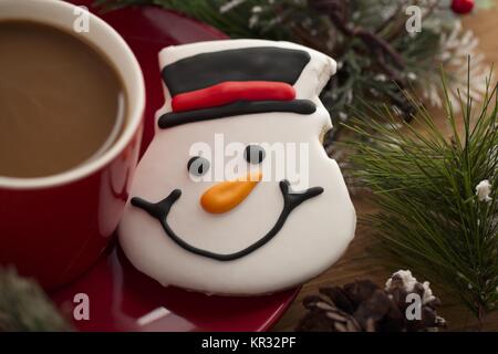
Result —
M 413 295 L 408 298 L 409 294 Z M 419 300 L 417 309 L 414 299 Z M 309 311 L 297 331 L 414 332 L 446 325 L 436 313 L 440 301 L 434 296 L 429 283 L 417 282 L 409 271 L 394 273 L 385 289 L 370 280 L 342 288 L 321 288 L 320 294 L 307 296 L 303 305 Z

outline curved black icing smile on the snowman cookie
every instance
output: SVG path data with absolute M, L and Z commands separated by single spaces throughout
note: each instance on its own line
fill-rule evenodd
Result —
M 242 258 L 242 257 L 256 251 L 257 249 L 264 246 L 266 243 L 268 243 L 283 227 L 283 223 L 286 222 L 287 218 L 289 217 L 289 215 L 291 214 L 292 210 L 294 210 L 299 205 L 301 205 L 301 202 L 303 202 L 308 199 L 311 199 L 313 197 L 317 197 L 323 192 L 322 187 L 313 187 L 313 188 L 309 188 L 301 192 L 292 192 L 292 191 L 290 191 L 288 180 L 280 181 L 280 190 L 282 191 L 282 197 L 283 197 L 283 208 L 282 208 L 282 212 L 280 214 L 279 218 L 277 219 L 277 222 L 270 229 L 270 231 L 268 231 L 267 235 L 264 235 L 262 238 L 260 238 L 258 241 L 250 244 L 249 247 L 247 247 L 240 251 L 237 251 L 234 253 L 226 253 L 226 254 L 210 252 L 210 251 L 197 248 L 195 246 L 191 246 L 191 244 L 187 243 L 186 241 L 184 241 L 180 237 L 178 237 L 175 233 L 175 231 L 172 230 L 172 228 L 169 227 L 166 219 L 169 214 L 169 210 L 172 209 L 172 206 L 181 196 L 181 190 L 175 189 L 165 199 L 160 200 L 159 202 L 155 202 L 155 204 L 146 201 L 142 198 L 134 197 L 134 198 L 132 198 L 132 205 L 137 208 L 144 209 L 152 217 L 156 218 L 163 226 L 163 229 L 166 232 L 166 235 L 176 244 L 178 244 L 183 249 L 185 249 L 191 253 L 211 258 L 211 259 L 215 259 L 218 261 L 232 261 L 232 260 Z

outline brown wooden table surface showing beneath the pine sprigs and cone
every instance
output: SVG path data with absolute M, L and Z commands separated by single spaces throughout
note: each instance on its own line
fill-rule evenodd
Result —
M 480 10 L 475 14 L 464 18 L 464 28 L 471 29 L 479 38 L 479 50 L 486 54 L 489 63 L 495 62 L 498 65 L 498 4 L 490 10 Z M 443 124 L 443 115 L 435 111 L 435 116 Z M 372 212 L 373 207 L 365 195 L 355 195 L 352 197 L 356 214 L 361 217 Z M 318 289 L 328 284 L 342 285 L 356 279 L 371 279 L 377 284 L 384 284 L 386 279 L 397 269 L 385 269 L 373 260 L 366 249 L 372 244 L 371 230 L 363 226 L 356 229 L 356 236 L 346 253 L 328 271 L 320 277 L 309 281 L 302 287 L 301 292 L 283 315 L 283 317 L 273 327 L 274 331 L 292 331 L 299 320 L 304 314 L 304 308 L 301 304 L 305 295 L 318 292 Z M 424 280 L 421 274 L 414 274 L 419 281 Z M 476 321 L 471 313 L 458 304 L 450 294 L 444 293 L 437 284 L 432 285 L 436 295 L 443 301 L 438 313 L 448 322 L 448 330 L 453 331 L 473 331 L 476 330 Z M 498 331 L 498 313 L 488 316 L 484 326 L 485 331 Z

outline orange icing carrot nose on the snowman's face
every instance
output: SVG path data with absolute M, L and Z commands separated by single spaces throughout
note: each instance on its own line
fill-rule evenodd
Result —
M 200 205 L 207 212 L 227 212 L 241 204 L 261 178 L 261 171 L 257 171 L 237 180 L 219 183 L 203 194 Z

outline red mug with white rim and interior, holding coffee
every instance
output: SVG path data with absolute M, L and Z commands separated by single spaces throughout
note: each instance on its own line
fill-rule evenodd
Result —
M 0 21 L 8 19 L 75 31 L 113 62 L 127 94 L 122 133 L 98 157 L 55 176 L 0 176 L 0 264 L 13 264 L 53 289 L 86 270 L 117 227 L 138 160 L 144 79 L 120 34 L 82 8 L 55 0 L 2 0 Z

